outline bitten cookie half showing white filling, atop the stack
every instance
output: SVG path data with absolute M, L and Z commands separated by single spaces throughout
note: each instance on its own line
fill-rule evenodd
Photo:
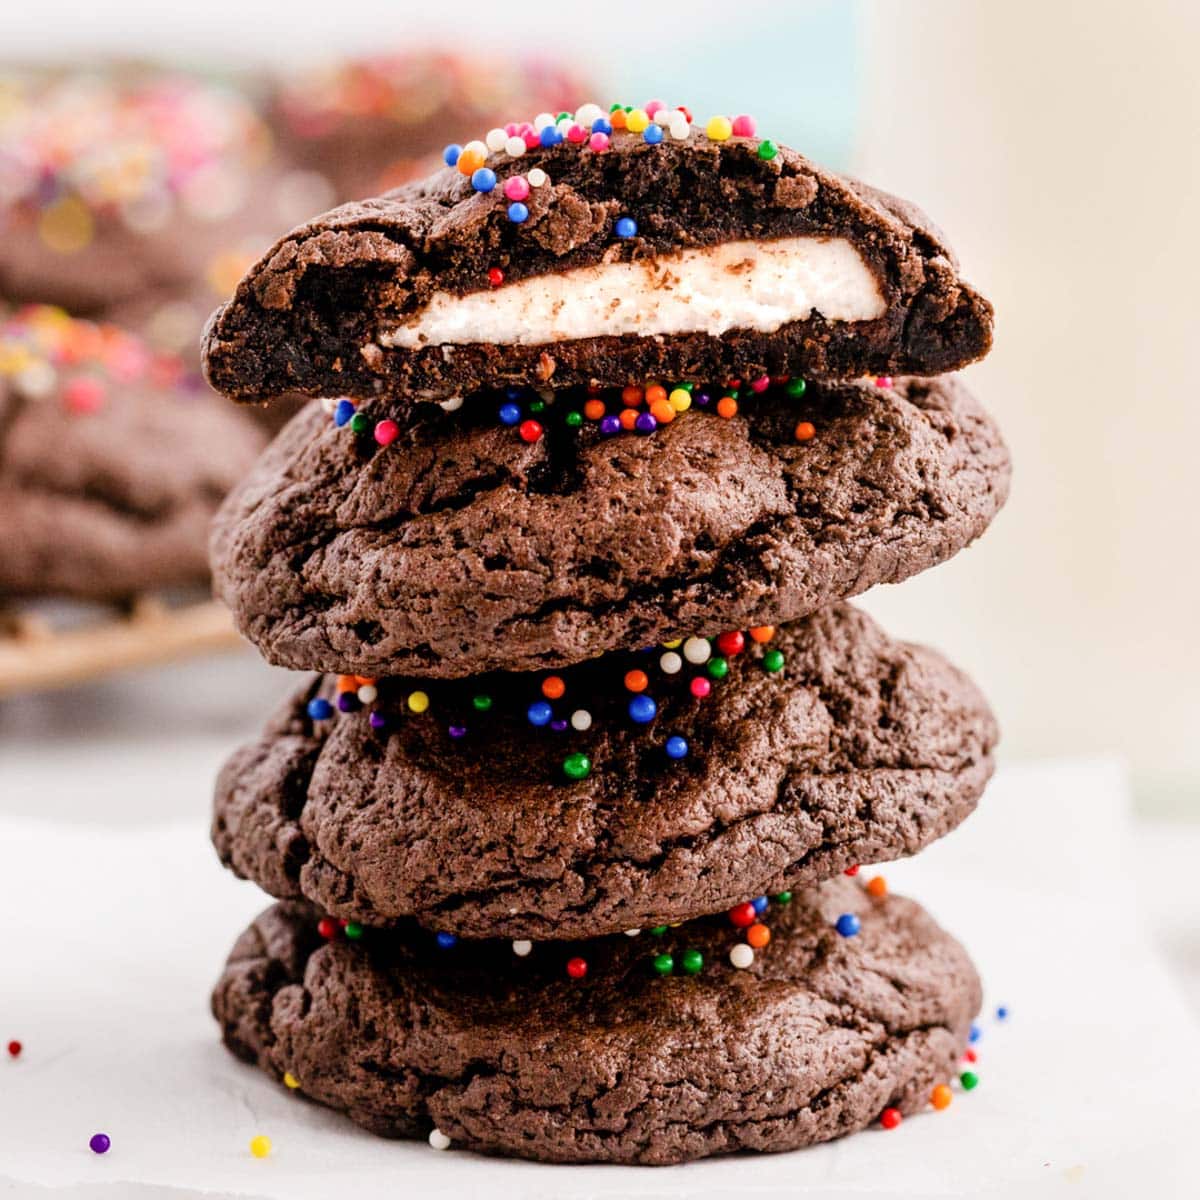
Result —
M 413 402 L 932 376 L 988 352 L 991 306 L 919 210 L 752 131 L 584 104 L 448 148 L 278 241 L 214 314 L 209 379 L 240 401 Z

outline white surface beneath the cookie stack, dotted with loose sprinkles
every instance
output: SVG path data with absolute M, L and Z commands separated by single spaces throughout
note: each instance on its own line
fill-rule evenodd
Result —
M 1002 770 L 884 869 L 985 979 L 980 1086 L 796 1154 L 546 1168 L 372 1139 L 234 1062 L 208 990 L 266 904 L 206 842 L 212 778 L 289 679 L 248 656 L 0 709 L 0 1194 L 1194 1196 L 1200 832 L 1135 826 L 1120 766 Z M 1165 954 L 1163 953 L 1165 952 Z M 1189 1012 L 1190 997 L 1193 1012 Z M 1004 1003 L 1010 1019 L 989 1014 Z M 113 1138 L 100 1158 L 92 1132 Z M 269 1159 L 248 1139 L 268 1134 Z

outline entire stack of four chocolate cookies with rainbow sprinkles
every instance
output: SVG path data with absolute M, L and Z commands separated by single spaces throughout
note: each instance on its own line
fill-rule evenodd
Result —
M 847 598 L 1008 455 L 991 308 L 911 205 L 749 116 L 586 104 L 283 238 L 210 322 L 310 406 L 220 594 L 317 671 L 226 766 L 278 899 L 228 1046 L 380 1134 L 559 1162 L 788 1150 L 948 1103 L 979 980 L 859 864 L 953 829 L 986 703 Z

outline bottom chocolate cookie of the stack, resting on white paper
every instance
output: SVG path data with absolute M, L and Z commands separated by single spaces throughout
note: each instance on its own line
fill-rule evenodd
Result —
M 212 1009 L 234 1054 L 367 1129 L 485 1153 L 680 1163 L 919 1111 L 979 1008 L 962 948 L 848 880 L 760 904 L 758 950 L 725 917 L 532 949 L 323 942 L 316 913 L 277 905 Z

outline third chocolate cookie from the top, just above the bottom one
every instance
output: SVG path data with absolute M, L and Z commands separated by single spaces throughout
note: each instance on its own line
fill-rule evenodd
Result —
M 965 676 L 835 606 L 556 676 L 314 680 L 226 764 L 214 841 L 368 925 L 592 937 L 912 854 L 995 742 Z

